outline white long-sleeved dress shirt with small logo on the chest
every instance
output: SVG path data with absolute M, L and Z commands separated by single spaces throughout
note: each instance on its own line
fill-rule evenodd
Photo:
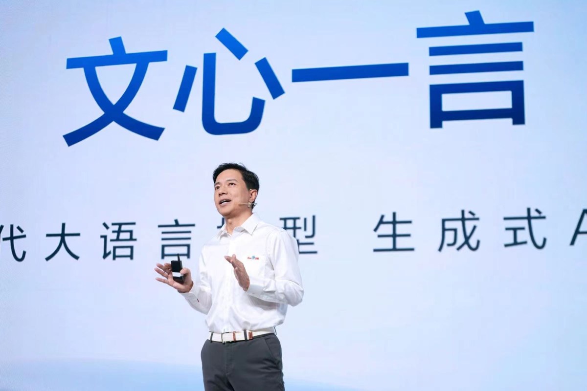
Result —
M 251 285 L 238 285 L 234 268 L 224 256 L 236 254 Z M 200 254 L 199 276 L 183 293 L 195 310 L 207 314 L 212 332 L 271 328 L 284 322 L 289 305 L 302 301 L 298 244 L 284 229 L 262 222 L 253 213 L 228 234 L 226 225 L 206 243 Z

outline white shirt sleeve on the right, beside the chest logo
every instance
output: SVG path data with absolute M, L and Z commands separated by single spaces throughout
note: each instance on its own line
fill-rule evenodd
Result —
M 249 276 L 247 293 L 265 301 L 298 305 L 303 298 L 298 243 L 284 230 L 270 234 L 267 242 L 274 278 Z

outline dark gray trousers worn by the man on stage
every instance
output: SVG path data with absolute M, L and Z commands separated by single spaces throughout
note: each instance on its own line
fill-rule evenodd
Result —
M 281 343 L 275 334 L 249 341 L 204 342 L 205 391 L 284 391 Z

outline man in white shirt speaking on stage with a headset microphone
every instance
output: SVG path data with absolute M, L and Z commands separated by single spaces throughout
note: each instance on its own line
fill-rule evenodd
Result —
M 287 306 L 302 301 L 298 245 L 285 230 L 253 213 L 259 179 L 239 164 L 221 164 L 212 175 L 214 203 L 224 226 L 203 246 L 194 279 L 173 280 L 171 264 L 157 264 L 163 278 L 195 310 L 207 314 L 210 335 L 201 351 L 206 391 L 284 390 L 281 344 L 275 327 Z

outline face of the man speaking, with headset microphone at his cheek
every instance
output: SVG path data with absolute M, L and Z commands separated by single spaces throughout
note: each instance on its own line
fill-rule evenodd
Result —
M 225 218 L 250 210 L 246 204 L 254 200 L 256 193 L 256 190 L 247 189 L 241 172 L 235 169 L 222 171 L 214 183 L 214 203 Z

